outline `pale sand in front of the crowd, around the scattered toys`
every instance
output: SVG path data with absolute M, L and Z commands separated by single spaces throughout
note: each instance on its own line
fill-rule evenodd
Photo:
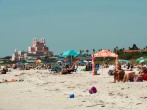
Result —
M 0 83 L 0 110 L 147 110 L 147 82 L 112 83 L 107 71 L 92 76 L 80 69 L 67 75 L 12 70 L 0 81 L 24 81 Z M 96 94 L 89 94 L 92 86 Z M 75 98 L 69 98 L 72 93 Z

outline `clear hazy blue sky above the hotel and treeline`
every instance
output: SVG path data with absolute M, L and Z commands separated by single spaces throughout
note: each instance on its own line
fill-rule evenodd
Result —
M 147 0 L 0 0 L 0 57 L 45 38 L 69 49 L 147 46 Z

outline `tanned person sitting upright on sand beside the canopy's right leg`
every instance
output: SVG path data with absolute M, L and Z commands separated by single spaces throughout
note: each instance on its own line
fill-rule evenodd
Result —
M 113 71 L 112 74 L 114 75 L 114 82 L 116 81 L 119 82 L 119 81 L 123 81 L 125 71 L 119 67 L 117 70 Z

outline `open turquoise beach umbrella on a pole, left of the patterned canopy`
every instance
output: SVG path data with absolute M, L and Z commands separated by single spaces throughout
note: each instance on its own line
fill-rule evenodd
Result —
M 72 57 L 81 56 L 81 54 L 75 50 L 68 50 L 68 51 L 63 52 L 62 56 L 64 57 L 70 56 L 71 62 L 72 62 Z

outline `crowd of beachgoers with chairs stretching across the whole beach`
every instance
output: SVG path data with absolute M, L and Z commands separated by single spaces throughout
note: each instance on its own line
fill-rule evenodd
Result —
M 52 64 L 40 63 L 40 64 L 13 64 L 9 66 L 4 66 L 0 71 L 0 74 L 6 74 L 9 71 L 9 68 L 18 69 L 18 70 L 49 70 L 49 73 L 54 74 L 71 74 L 78 70 L 80 65 L 79 60 L 70 63 L 56 62 Z M 87 61 L 84 65 L 83 71 L 92 71 L 91 62 Z M 110 68 L 109 68 L 110 67 Z M 113 67 L 113 68 L 112 68 Z M 109 65 L 109 64 L 95 64 L 96 75 L 99 75 L 100 68 L 109 68 L 107 72 L 108 75 L 114 76 L 114 82 L 128 82 L 128 81 L 147 81 L 147 66 L 145 63 L 134 65 L 132 63 L 118 63 L 118 65 Z M 133 71 L 137 70 L 137 71 Z M 125 71 L 130 71 L 125 73 Z

